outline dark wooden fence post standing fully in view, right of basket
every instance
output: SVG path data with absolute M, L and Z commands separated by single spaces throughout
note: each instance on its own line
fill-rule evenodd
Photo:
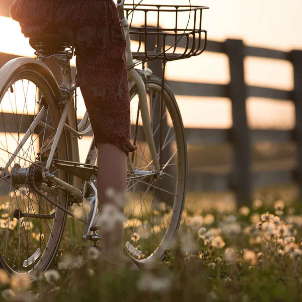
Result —
M 250 154 L 251 141 L 247 125 L 246 98 L 247 89 L 244 82 L 245 46 L 242 40 L 227 39 L 226 54 L 230 61 L 230 97 L 232 100 L 234 146 L 234 185 L 237 206 L 251 202 Z

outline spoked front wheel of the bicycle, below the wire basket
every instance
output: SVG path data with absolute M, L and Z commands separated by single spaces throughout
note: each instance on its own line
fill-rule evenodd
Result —
M 148 77 L 145 87 L 162 169 L 160 175 L 156 174 L 134 86 L 130 91 L 131 141 L 137 150 L 128 156 L 123 246 L 126 255 L 141 266 L 163 259 L 171 247 L 180 224 L 187 182 L 185 131 L 175 97 L 165 86 L 160 119 L 162 81 L 155 76 Z

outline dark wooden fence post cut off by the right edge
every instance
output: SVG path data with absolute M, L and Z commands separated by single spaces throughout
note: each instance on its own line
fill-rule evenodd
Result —
M 295 138 L 297 142 L 297 183 L 302 196 L 302 50 L 293 50 L 290 53 L 293 64 L 294 90 L 293 102 L 295 105 Z

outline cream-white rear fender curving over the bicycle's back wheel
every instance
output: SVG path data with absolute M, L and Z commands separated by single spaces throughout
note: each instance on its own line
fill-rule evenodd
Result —
M 19 71 L 26 69 L 38 72 L 43 78 L 45 78 L 47 83 L 49 83 L 49 87 L 54 97 L 58 101 L 61 99 L 61 92 L 59 86 L 50 69 L 44 63 L 38 61 L 37 59 L 20 57 L 8 61 L 0 69 L 0 100 L 3 98 L 3 95 L 6 92 L 5 89 L 7 89 L 7 85 L 9 85 L 10 81 L 15 76 L 15 74 Z

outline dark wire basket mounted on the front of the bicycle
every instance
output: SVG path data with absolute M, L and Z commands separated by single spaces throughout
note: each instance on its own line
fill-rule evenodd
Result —
M 204 9 L 208 8 L 125 4 L 130 38 L 138 45 L 133 59 L 173 61 L 201 54 L 206 46 L 206 31 L 201 28 Z M 137 20 L 143 25 L 133 26 Z

